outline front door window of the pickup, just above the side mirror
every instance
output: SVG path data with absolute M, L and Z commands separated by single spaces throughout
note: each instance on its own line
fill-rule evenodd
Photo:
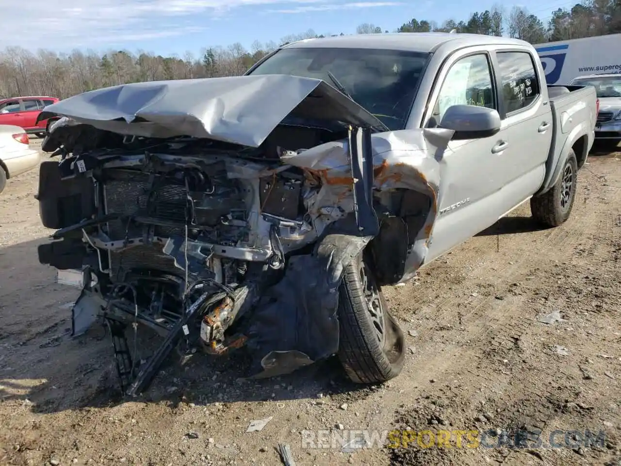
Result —
M 446 109 L 453 105 L 476 105 L 496 109 L 487 55 L 471 55 L 453 63 L 440 88 L 428 126 L 440 124 Z

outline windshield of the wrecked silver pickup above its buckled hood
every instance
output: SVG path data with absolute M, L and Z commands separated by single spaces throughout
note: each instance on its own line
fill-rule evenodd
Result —
M 397 130 L 406 126 L 428 56 L 368 48 L 284 48 L 251 74 L 324 80 Z

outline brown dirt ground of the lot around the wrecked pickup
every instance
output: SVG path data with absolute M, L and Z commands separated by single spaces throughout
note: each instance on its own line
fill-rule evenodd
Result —
M 353 385 L 334 360 L 247 381 L 242 350 L 173 361 L 132 400 L 119 396 L 104 330 L 68 336 L 77 293 L 37 260 L 50 234 L 37 178 L 0 196 L 0 465 L 279 465 L 279 443 L 297 466 L 621 465 L 621 152 L 589 157 L 563 226 L 539 231 L 525 204 L 386 288 L 409 345 L 389 383 Z M 561 320 L 540 322 L 548 314 Z M 407 448 L 353 452 L 303 442 L 304 430 L 351 429 L 453 436 L 450 447 L 414 434 Z M 456 442 L 455 431 L 487 429 L 478 447 Z M 537 429 L 540 446 L 499 441 Z M 590 445 L 587 429 L 602 432 Z

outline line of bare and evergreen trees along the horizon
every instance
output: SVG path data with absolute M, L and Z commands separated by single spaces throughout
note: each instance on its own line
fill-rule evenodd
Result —
M 498 0 L 499 1 L 499 0 Z M 527 40 L 531 43 L 546 40 L 564 40 L 589 35 L 621 32 L 621 0 L 584 0 L 571 9 L 558 8 L 551 12 L 551 19 L 544 27 L 540 19 L 526 9 L 514 7 L 505 14 L 504 6 L 497 3 L 491 9 L 475 12 L 468 19 L 450 19 L 438 27 L 425 19 L 407 19 L 397 32 L 475 32 L 501 35 Z M 382 29 L 365 23 L 356 28 L 358 34 L 378 34 Z M 343 35 L 329 34 L 329 35 Z M 324 37 L 309 29 L 301 34 L 291 34 L 281 43 Z M 211 78 L 240 75 L 267 53 L 278 48 L 275 42 L 253 42 L 250 50 L 241 43 L 229 47 L 206 47 L 194 57 L 186 52 L 183 58 L 176 55 L 161 56 L 138 50 L 73 50 L 57 53 L 51 50 L 30 52 L 20 47 L 0 51 L 0 97 L 20 95 L 52 95 L 67 98 L 91 89 L 136 81 Z

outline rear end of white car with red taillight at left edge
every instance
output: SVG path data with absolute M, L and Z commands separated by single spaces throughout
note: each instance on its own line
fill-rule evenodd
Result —
M 39 166 L 40 153 L 29 144 L 24 128 L 0 125 L 0 193 L 6 180 Z

